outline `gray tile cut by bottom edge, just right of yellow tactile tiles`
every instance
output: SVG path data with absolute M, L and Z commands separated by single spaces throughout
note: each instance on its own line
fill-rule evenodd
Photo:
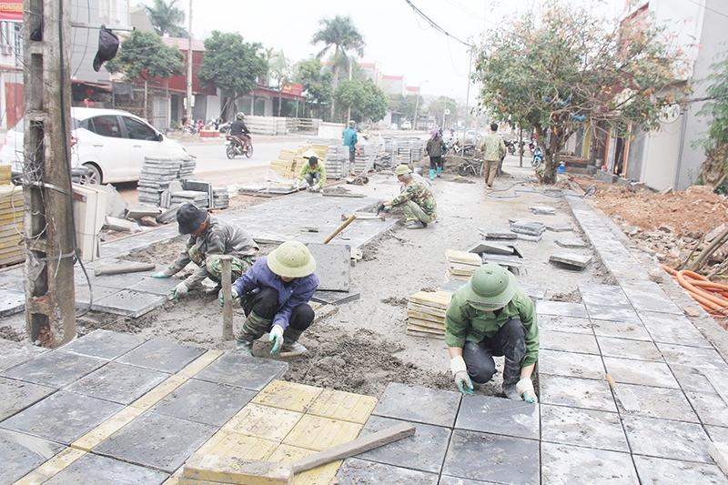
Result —
M 371 461 L 349 458 L 336 474 L 339 483 L 377 483 L 378 485 L 437 485 L 436 473 L 407 470 Z

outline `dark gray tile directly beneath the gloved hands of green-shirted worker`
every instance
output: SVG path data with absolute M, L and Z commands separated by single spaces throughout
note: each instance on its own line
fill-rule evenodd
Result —
M 538 440 L 539 408 L 525 401 L 466 396 L 460 403 L 455 428 Z

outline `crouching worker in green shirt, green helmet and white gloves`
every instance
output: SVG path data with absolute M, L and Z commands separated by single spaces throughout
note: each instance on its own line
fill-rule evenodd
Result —
M 504 356 L 503 393 L 537 402 L 531 374 L 539 357 L 539 327 L 531 298 L 506 269 L 487 263 L 452 295 L 445 315 L 445 343 L 458 389 L 495 374 L 493 356 Z

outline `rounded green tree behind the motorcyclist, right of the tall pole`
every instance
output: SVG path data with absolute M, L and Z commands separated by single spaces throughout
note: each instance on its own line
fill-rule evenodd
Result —
M 205 55 L 197 77 L 205 86 L 219 87 L 224 96 L 233 100 L 228 112 L 235 100 L 256 89 L 258 77 L 268 72 L 268 64 L 259 53 L 261 47 L 257 42 L 243 42 L 242 35 L 218 30 L 205 39 Z

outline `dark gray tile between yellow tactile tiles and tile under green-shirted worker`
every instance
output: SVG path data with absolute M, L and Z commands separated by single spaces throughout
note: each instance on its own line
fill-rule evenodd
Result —
M 390 382 L 372 414 L 435 426 L 452 427 L 460 406 L 460 392 L 405 386 Z

